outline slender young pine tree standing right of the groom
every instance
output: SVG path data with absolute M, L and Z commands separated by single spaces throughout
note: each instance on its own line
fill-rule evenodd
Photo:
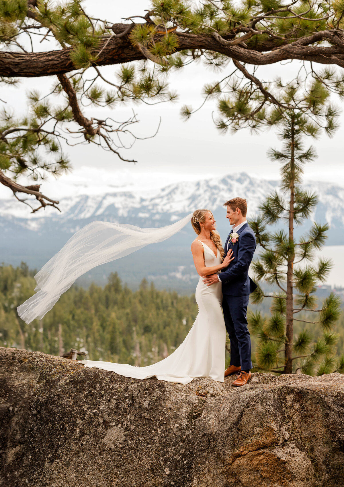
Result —
M 315 157 L 312 147 L 304 148 L 303 139 L 315 137 L 322 120 L 331 135 L 337 111 L 329 102 L 328 91 L 317 81 L 306 91 L 294 85 L 281 87 L 280 95 L 290 108 L 274 110 L 265 118 L 266 123 L 278 126 L 283 140 L 282 150 L 269 152 L 281 164 L 280 190 L 266 198 L 259 216 L 250 222 L 261 247 L 253 264 L 256 280 L 277 288 L 267 295 L 258 285 L 253 294 L 254 303 L 272 300 L 270 318 L 260 312 L 249 316 L 251 330 L 258 337 L 257 367 L 284 374 L 296 370 L 312 374 L 316 367 L 319 375 L 344 372 L 343 358 L 336 361 L 334 357 L 337 337 L 333 327 L 340 316 L 340 299 L 332 293 L 317 307 L 314 295 L 316 285 L 326 280 L 331 268 L 329 260 L 314 257 L 314 251 L 326 241 L 329 226 L 315 222 L 307 235 L 294 238 L 295 225 L 310 219 L 318 202 L 315 193 L 301 186 L 304 166 Z M 266 225 L 282 222 L 287 231 L 279 227 L 275 232 L 267 230 Z M 294 336 L 294 321 L 320 327 L 322 336 L 314 341 L 308 329 Z

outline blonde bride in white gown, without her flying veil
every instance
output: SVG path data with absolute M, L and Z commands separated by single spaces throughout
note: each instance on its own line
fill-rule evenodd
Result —
M 116 372 L 136 379 L 155 376 L 159 380 L 188 384 L 194 377 L 209 377 L 224 382 L 225 325 L 221 310 L 221 281 L 207 286 L 203 277 L 219 273 L 233 260 L 233 252 L 224 258 L 220 235 L 211 211 L 194 211 L 191 225 L 198 237 L 191 244 L 193 262 L 200 275 L 196 287 L 198 315 L 183 343 L 164 360 L 146 367 L 112 362 L 82 360 L 85 367 Z

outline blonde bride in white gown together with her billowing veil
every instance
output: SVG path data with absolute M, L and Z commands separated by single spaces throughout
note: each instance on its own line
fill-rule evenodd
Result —
M 196 288 L 199 311 L 183 343 L 172 355 L 147 367 L 92 360 L 81 363 L 86 367 L 98 367 L 138 379 L 155 376 L 160 380 L 188 384 L 194 377 L 210 377 L 224 382 L 225 325 L 221 310 L 221 282 L 207 286 L 203 277 L 219 273 L 234 257 L 230 251 L 224 258 L 215 219 L 206 209 L 196 210 L 192 215 L 162 228 L 139 228 L 99 221 L 89 223 L 78 230 L 34 276 L 36 293 L 18 306 L 19 317 L 26 323 L 42 319 L 79 276 L 97 265 L 170 238 L 187 225 L 190 218 L 198 235 L 191 244 L 191 251 L 200 275 Z

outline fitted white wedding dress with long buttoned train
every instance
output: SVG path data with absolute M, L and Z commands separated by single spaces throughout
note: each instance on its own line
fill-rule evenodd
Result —
M 221 263 L 217 256 L 203 244 L 205 265 L 212 267 Z M 159 380 L 188 384 L 194 377 L 209 377 L 224 382 L 225 325 L 221 310 L 221 282 L 207 287 L 200 277 L 196 287 L 198 315 L 183 343 L 168 357 L 146 367 L 134 367 L 112 362 L 82 360 L 85 367 L 113 371 L 135 379 L 155 376 Z

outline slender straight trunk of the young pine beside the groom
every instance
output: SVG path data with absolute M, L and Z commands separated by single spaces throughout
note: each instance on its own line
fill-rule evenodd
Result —
M 294 243 L 294 151 L 295 151 L 295 139 L 294 139 L 294 118 L 292 115 L 291 123 L 291 180 L 290 180 L 290 204 L 289 204 L 289 244 Z M 285 374 L 292 374 L 292 341 L 294 336 L 293 330 L 293 265 L 295 254 L 294 251 L 290 253 L 287 263 L 287 299 L 286 299 L 286 337 L 287 341 L 284 349 L 285 358 Z

